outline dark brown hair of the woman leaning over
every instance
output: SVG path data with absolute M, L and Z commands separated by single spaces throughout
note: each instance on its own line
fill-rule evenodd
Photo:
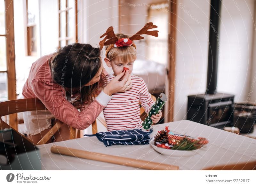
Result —
M 100 82 L 84 86 L 98 73 L 101 66 L 100 49 L 90 44 L 73 43 L 60 48 L 49 60 L 52 79 L 63 88 L 80 88 L 84 101 L 92 100 Z

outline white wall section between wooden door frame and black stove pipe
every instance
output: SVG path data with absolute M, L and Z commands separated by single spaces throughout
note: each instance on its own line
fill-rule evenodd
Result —
M 187 96 L 206 89 L 210 4 L 180 0 L 177 14 L 176 42 L 180 50 L 176 47 L 174 120 L 182 120 L 187 113 Z

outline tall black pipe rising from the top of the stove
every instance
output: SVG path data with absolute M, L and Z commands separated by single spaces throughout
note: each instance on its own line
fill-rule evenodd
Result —
M 220 8 L 221 0 L 211 0 L 210 11 L 210 31 L 209 31 L 209 50 L 208 50 L 208 69 L 206 94 L 216 93 L 217 73 L 218 73 L 218 55 L 220 44 Z

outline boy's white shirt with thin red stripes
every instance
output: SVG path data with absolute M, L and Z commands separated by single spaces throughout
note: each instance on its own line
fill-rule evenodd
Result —
M 108 74 L 107 82 L 114 76 Z M 145 81 L 135 75 L 132 75 L 132 88 L 112 95 L 113 98 L 103 109 L 104 118 L 107 123 L 107 130 L 129 130 L 142 128 L 143 121 L 140 119 L 140 105 L 148 113 L 154 101 L 148 92 Z

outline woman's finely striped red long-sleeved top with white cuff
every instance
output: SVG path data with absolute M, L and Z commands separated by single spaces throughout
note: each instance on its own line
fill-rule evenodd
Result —
M 55 118 L 71 127 L 80 130 L 89 127 L 112 96 L 108 96 L 101 91 L 87 108 L 79 112 L 68 102 L 66 92 L 61 85 L 52 80 L 48 63 L 50 57 L 52 57 L 52 54 L 43 56 L 32 64 L 28 79 L 22 89 L 22 95 L 25 98 L 39 98 Z M 65 73 L 64 68 L 63 72 Z

